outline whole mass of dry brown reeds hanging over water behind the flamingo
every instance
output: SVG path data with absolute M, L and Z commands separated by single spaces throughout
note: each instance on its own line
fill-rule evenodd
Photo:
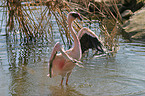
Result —
M 75 1 L 75 0 L 74 0 Z M 70 11 L 77 11 L 81 14 L 83 22 L 75 21 L 74 29 L 78 32 L 82 27 L 89 27 L 94 31 L 107 50 L 116 52 L 118 48 L 119 31 L 118 25 L 122 22 L 116 0 L 112 0 L 112 13 L 106 2 L 96 5 L 95 1 L 83 0 L 71 2 L 71 0 L 4 0 L 1 6 L 6 6 L 3 14 L 7 17 L 7 36 L 17 41 L 20 37 L 21 44 L 29 43 L 51 43 L 54 40 L 55 32 L 59 31 L 61 40 L 65 45 L 72 45 L 67 14 Z M 93 7 L 98 13 L 90 11 Z M 54 22 L 55 21 L 55 22 Z M 99 24 L 99 25 L 98 25 Z M 108 26 L 109 24 L 109 26 Z M 93 26 L 92 26 L 93 25 Z M 58 30 L 56 30 L 58 27 Z M 65 41 L 67 40 L 67 41 Z M 11 41 L 11 40 L 10 40 Z

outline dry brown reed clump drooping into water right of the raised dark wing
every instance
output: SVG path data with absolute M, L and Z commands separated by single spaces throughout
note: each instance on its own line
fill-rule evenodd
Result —
M 118 17 L 120 18 L 120 13 L 118 14 L 118 8 L 114 7 L 116 6 L 116 2 L 113 1 L 112 3 L 112 9 L 117 13 L 117 16 L 115 17 L 106 2 L 103 2 L 102 4 L 103 10 L 100 10 L 102 14 L 106 15 L 105 17 L 110 17 L 110 19 L 107 20 L 104 19 L 102 21 L 102 37 L 104 37 L 104 45 L 107 47 L 108 50 L 116 52 L 118 49 L 118 30 L 117 30 L 117 24 L 119 22 Z M 115 8 L 115 9 L 114 9 Z M 106 21 L 107 20 L 107 21 Z M 107 22 L 107 23 L 106 23 Z M 112 25 L 112 28 L 110 29 L 109 26 L 110 23 Z

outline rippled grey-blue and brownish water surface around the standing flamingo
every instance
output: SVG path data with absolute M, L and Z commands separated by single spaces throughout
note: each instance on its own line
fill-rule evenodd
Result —
M 19 37 L 18 41 L 12 35 L 7 38 L 5 25 L 3 23 L 0 32 L 1 96 L 145 95 L 144 42 L 120 39 L 120 49 L 115 56 L 82 58 L 84 68 L 76 66 L 69 86 L 59 86 L 60 76 L 47 77 L 54 43 L 21 44 Z

